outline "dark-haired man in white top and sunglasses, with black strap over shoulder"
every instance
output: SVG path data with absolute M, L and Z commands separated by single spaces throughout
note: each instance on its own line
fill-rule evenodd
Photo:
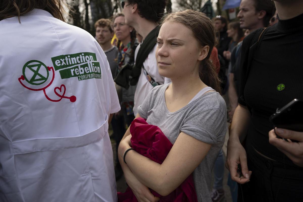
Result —
M 165 0 L 122 0 L 121 2 L 123 13 L 125 15 L 125 22 L 135 28 L 135 30 L 143 37 L 142 43 L 144 44 L 144 40 L 149 34 L 153 34 L 153 37 L 155 38 L 155 33 L 153 32 L 157 29 L 157 23 L 163 16 L 166 5 Z M 158 31 L 156 31 L 156 33 L 158 34 Z M 135 60 L 142 43 L 136 48 Z M 156 44 L 143 62 L 143 67 L 141 68 L 141 75 L 135 91 L 135 106 L 133 108 L 135 116 L 138 113 L 138 106 L 142 104 L 148 92 L 155 85 L 164 84 L 166 83 L 165 81 L 170 81 L 169 79 L 165 79 L 159 75 L 155 51 Z

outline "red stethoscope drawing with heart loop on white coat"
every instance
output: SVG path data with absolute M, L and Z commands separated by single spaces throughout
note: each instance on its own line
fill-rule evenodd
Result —
M 64 84 L 62 84 L 60 87 L 55 87 L 55 88 L 54 88 L 55 94 L 56 94 L 60 99 L 58 99 L 58 100 L 53 100 L 53 99 L 51 99 L 51 98 L 49 98 L 49 97 L 47 96 L 47 94 L 46 94 L 46 92 L 45 92 L 45 89 L 48 88 L 48 87 L 52 84 L 52 82 L 54 81 L 54 78 L 55 78 L 55 71 L 54 71 L 54 68 L 53 68 L 53 67 L 47 67 L 47 69 L 48 69 L 48 71 L 51 71 L 51 70 L 52 70 L 53 75 L 52 75 L 52 80 L 51 80 L 51 81 L 49 82 L 49 84 L 48 84 L 47 86 L 45 86 L 44 88 L 39 88 L 39 89 L 29 88 L 28 86 L 26 86 L 25 84 L 23 84 L 23 83 L 21 82 L 21 80 L 22 80 L 22 81 L 25 80 L 24 75 L 21 75 L 21 77 L 18 78 L 18 80 L 19 80 L 20 84 L 21 84 L 24 88 L 27 88 L 28 90 L 31 90 L 31 91 L 43 91 L 45 97 L 46 97 L 49 101 L 52 101 L 52 102 L 59 102 L 59 101 L 62 100 L 62 98 L 66 98 L 66 99 L 69 99 L 71 102 L 75 102 L 75 101 L 76 101 L 76 96 L 74 96 L 74 95 L 72 95 L 71 97 L 64 96 L 64 95 L 65 95 L 65 91 L 66 91 L 66 88 L 65 88 L 65 85 L 64 85 Z M 58 91 L 59 91 L 61 94 L 59 94 Z M 62 91 L 63 91 L 63 92 L 62 92 Z

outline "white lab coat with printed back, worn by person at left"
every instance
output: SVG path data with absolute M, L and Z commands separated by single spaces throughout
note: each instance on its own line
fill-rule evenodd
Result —
M 117 201 L 120 105 L 97 41 L 41 9 L 0 21 L 0 37 L 0 201 Z

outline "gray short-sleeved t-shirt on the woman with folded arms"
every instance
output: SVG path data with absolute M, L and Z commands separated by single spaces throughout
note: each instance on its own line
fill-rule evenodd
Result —
M 226 126 L 226 104 L 217 92 L 208 92 L 175 112 L 168 111 L 165 90 L 169 84 L 153 88 L 138 107 L 147 123 L 158 126 L 174 144 L 180 132 L 211 144 L 211 149 L 193 172 L 199 202 L 211 202 L 211 170 L 221 150 Z

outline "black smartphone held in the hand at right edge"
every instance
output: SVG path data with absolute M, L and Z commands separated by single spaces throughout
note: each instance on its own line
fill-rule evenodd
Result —
M 294 99 L 269 117 L 274 127 L 303 132 L 303 101 Z

